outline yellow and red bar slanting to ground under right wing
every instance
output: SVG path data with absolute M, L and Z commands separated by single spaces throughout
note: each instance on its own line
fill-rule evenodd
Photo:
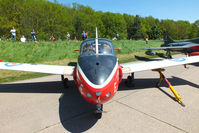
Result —
M 172 91 L 172 93 L 174 94 L 174 96 L 176 97 L 178 103 L 180 103 L 184 107 L 185 105 L 183 104 L 180 95 L 176 92 L 176 90 L 173 88 L 173 86 L 168 81 L 168 79 L 163 75 L 162 71 L 165 71 L 165 69 L 161 69 L 161 68 L 153 69 L 152 71 L 156 71 L 160 74 L 160 80 L 159 80 L 159 82 L 157 82 L 156 86 L 160 87 L 162 81 L 164 80 L 166 82 L 166 84 L 168 85 L 168 87 L 170 88 L 170 90 Z

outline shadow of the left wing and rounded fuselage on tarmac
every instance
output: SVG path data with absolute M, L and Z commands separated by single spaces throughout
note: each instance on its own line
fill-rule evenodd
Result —
M 69 81 L 69 88 L 66 89 L 61 81 L 0 84 L 0 93 L 62 93 L 59 98 L 59 117 L 69 132 L 87 131 L 98 121 L 93 115 L 95 105 L 82 98 L 73 81 Z

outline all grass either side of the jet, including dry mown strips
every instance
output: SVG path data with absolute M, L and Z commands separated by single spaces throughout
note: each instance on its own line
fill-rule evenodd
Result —
M 149 41 L 151 47 L 159 47 L 163 42 Z M 0 59 L 4 62 L 23 62 L 23 63 L 40 63 L 54 65 L 68 65 L 77 62 L 81 42 L 74 41 L 56 41 L 38 43 L 34 42 L 9 42 L 0 41 Z M 147 56 L 141 48 L 149 47 L 143 40 L 119 40 L 113 41 L 115 48 L 121 50 L 116 51 L 119 63 L 137 60 L 135 56 L 154 58 L 157 56 Z M 23 79 L 36 78 L 49 74 L 20 72 L 0 70 L 0 83 L 12 82 Z

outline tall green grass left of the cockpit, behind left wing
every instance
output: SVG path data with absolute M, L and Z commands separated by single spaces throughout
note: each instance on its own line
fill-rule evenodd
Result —
M 56 41 L 52 42 L 6 42 L 0 41 L 0 58 L 8 62 L 36 63 L 43 61 L 76 58 L 80 42 Z

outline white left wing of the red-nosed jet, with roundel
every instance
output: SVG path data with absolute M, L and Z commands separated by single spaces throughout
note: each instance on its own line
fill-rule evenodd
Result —
M 49 74 L 58 74 L 58 75 L 72 75 L 74 67 L 73 66 L 0 62 L 0 69 L 49 73 Z

